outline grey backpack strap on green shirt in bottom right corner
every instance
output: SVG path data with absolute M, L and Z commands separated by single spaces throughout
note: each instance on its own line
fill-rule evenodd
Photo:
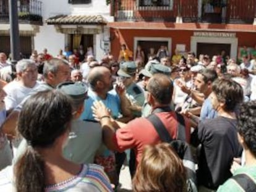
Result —
M 244 191 L 256 191 L 256 183 L 247 174 L 241 173 L 238 175 L 234 175 L 232 178 L 241 186 L 241 188 L 244 189 Z

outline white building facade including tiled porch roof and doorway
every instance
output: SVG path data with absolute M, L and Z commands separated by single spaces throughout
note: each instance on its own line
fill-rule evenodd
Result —
M 105 0 L 54 0 L 42 1 L 43 25 L 34 36 L 34 48 L 57 56 L 67 46 L 70 51 L 83 46 L 93 48 L 99 60 L 109 51 L 109 29 L 112 22 Z

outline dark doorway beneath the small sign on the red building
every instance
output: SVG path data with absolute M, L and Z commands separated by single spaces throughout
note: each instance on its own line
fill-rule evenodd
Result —
M 213 57 L 220 54 L 223 50 L 226 52 L 227 56 L 230 56 L 231 44 L 197 43 L 197 58 L 200 54 L 207 54 Z

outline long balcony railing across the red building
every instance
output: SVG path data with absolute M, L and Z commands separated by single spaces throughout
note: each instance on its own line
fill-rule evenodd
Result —
M 116 21 L 252 23 L 255 0 L 216 0 L 220 7 L 202 0 L 118 0 L 112 1 Z

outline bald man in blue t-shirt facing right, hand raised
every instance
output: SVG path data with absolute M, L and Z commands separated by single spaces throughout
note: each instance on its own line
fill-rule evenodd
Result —
M 126 98 L 124 86 L 116 86 L 117 94 L 109 93 L 109 90 L 113 88 L 113 78 L 109 69 L 102 66 L 93 67 L 88 74 L 87 81 L 89 84 L 89 98 L 85 101 L 85 110 L 80 119 L 95 120 L 91 109 L 94 101 L 103 101 L 106 107 L 111 110 L 113 119 L 131 116 L 127 107 L 129 101 Z

